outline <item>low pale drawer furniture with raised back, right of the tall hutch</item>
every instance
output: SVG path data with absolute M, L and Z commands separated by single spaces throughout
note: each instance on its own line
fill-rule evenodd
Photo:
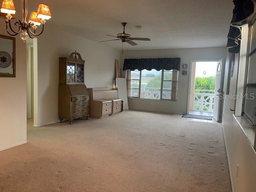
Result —
M 90 116 L 102 118 L 121 111 L 121 100 L 118 98 L 118 90 L 113 88 L 88 88 L 90 94 Z M 113 108 L 113 100 L 120 103 L 120 111 Z M 114 104 L 116 106 L 116 104 Z

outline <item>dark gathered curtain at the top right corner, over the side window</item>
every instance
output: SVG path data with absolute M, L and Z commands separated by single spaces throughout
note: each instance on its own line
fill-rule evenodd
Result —
M 233 0 L 234 10 L 233 17 L 228 33 L 228 52 L 239 53 L 241 41 L 241 26 L 247 23 L 247 19 L 254 12 L 253 0 Z

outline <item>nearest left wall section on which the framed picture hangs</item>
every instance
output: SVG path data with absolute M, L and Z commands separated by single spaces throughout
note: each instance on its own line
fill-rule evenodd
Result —
M 7 35 L 0 19 L 0 34 Z M 0 150 L 26 143 L 26 43 L 16 36 L 16 78 L 0 77 Z

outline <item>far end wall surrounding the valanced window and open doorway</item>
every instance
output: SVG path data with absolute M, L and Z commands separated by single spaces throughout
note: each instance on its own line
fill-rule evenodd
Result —
M 178 101 L 160 101 L 160 100 L 146 100 L 129 98 L 129 108 L 137 110 L 149 110 L 158 112 L 169 112 L 185 114 L 187 110 L 188 100 L 188 79 L 189 79 L 189 67 L 191 60 L 218 60 L 223 58 L 225 63 L 226 48 L 188 48 L 188 49 L 164 49 L 164 50 L 129 50 L 124 51 L 122 60 L 120 62 L 121 67 L 124 64 L 124 58 L 175 58 L 180 57 L 180 73 L 178 79 Z M 182 75 L 182 65 L 187 64 L 187 75 Z

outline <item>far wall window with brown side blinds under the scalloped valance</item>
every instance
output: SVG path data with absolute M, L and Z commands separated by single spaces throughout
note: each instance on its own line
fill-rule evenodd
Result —
M 176 101 L 177 70 L 131 71 L 130 97 Z

